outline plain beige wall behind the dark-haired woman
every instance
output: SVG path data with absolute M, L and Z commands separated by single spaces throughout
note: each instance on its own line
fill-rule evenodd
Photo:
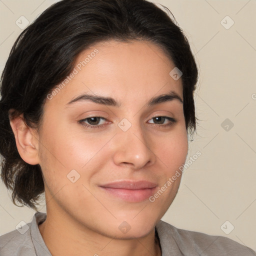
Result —
M 21 32 L 15 21 L 23 15 L 31 22 L 53 2 L 0 0 L 0 71 Z M 201 121 L 188 158 L 197 150 L 201 155 L 185 170 L 179 192 L 162 219 L 183 229 L 227 236 L 256 250 L 256 1 L 154 2 L 172 11 L 200 72 L 195 101 Z M 227 15 L 234 21 L 229 29 L 223 26 L 231 24 L 224 18 Z M 229 130 L 221 126 L 226 118 L 229 123 L 222 126 L 227 124 Z M 33 214 L 14 206 L 0 183 L 0 235 L 21 220 L 30 222 Z M 230 223 L 223 230 L 234 226 L 229 234 L 221 229 L 226 220 Z

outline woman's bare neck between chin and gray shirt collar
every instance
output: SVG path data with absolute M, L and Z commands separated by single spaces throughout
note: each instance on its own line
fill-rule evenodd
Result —
M 144 237 L 116 239 L 95 232 L 75 222 L 67 213 L 51 214 L 39 226 L 42 238 L 52 256 L 104 255 L 160 256 L 161 249 L 155 229 Z

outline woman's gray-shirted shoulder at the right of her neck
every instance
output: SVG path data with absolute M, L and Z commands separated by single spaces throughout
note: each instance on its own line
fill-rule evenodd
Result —
M 172 243 L 175 243 L 177 250 L 184 255 L 256 255 L 251 248 L 227 237 L 179 229 L 162 220 L 156 224 L 156 230 L 161 246 L 168 246 L 167 243 L 172 241 Z

